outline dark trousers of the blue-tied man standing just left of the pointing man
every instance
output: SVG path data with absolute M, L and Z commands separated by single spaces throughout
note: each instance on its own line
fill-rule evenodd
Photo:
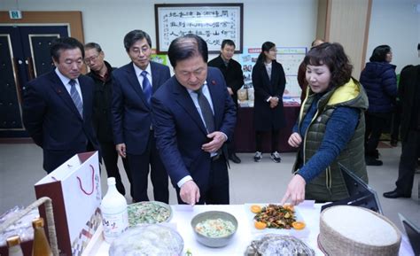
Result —
M 136 202 L 149 201 L 147 185 L 149 181 L 149 167 L 155 201 L 169 202 L 167 170 L 163 166 L 156 149 L 154 133 L 151 132 L 147 148 L 141 155 L 127 154 L 133 184 L 133 199 Z

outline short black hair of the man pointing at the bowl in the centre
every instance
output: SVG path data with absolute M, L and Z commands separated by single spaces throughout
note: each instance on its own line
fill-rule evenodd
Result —
M 193 56 L 201 56 L 207 63 L 208 49 L 207 43 L 203 38 L 194 34 L 187 34 L 175 38 L 169 45 L 167 56 L 171 65 L 175 68 L 176 62 L 191 58 Z

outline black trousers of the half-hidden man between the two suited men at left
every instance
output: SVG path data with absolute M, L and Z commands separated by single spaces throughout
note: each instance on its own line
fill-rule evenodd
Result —
M 102 158 L 104 159 L 104 164 L 106 168 L 106 174 L 108 177 L 115 177 L 115 182 L 117 186 L 117 190 L 122 194 L 126 194 L 126 190 L 124 189 L 124 185 L 121 181 L 120 170 L 118 168 L 118 152 L 115 150 L 115 144 L 113 142 L 99 142 L 102 151 Z M 130 183 L 130 187 L 133 187 L 131 182 L 131 173 L 128 167 L 128 159 L 121 158 L 122 165 L 126 171 L 128 181 Z M 130 196 L 133 197 L 133 190 L 130 190 Z

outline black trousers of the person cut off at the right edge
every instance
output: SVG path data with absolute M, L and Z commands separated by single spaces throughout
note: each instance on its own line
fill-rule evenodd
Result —
M 411 195 L 413 189 L 416 163 L 420 154 L 420 131 L 410 130 L 406 141 L 402 142 L 398 180 L 395 182 L 397 191 L 404 195 Z

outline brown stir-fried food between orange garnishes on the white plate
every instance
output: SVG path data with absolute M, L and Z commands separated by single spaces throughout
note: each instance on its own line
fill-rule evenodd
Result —
M 291 207 L 268 205 L 261 209 L 253 217 L 255 221 L 267 224 L 271 229 L 292 229 L 292 223 L 296 221 L 296 216 Z

